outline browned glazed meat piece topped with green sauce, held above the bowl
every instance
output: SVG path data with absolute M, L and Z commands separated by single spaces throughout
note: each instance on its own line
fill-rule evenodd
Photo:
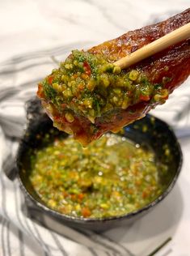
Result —
M 190 74 L 190 39 L 126 70 L 112 63 L 190 22 L 190 9 L 87 52 L 74 50 L 38 86 L 53 125 L 83 145 L 144 117 Z

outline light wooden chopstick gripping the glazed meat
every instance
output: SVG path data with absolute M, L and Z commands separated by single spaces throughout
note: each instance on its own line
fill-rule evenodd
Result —
M 155 53 L 161 52 L 163 49 L 171 45 L 175 45 L 180 41 L 184 41 L 190 37 L 190 23 L 175 29 L 174 31 L 168 33 L 167 35 L 160 37 L 159 39 L 153 41 L 152 43 L 143 46 L 141 49 L 120 58 L 120 60 L 114 62 L 114 65 L 120 66 L 121 69 L 125 69 L 141 60 L 154 55 Z

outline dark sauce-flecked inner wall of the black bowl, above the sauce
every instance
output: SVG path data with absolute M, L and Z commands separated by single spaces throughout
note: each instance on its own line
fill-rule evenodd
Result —
M 51 132 L 52 130 L 53 133 Z M 125 137 L 131 139 L 135 143 L 139 143 L 145 147 L 150 147 L 154 150 L 157 160 L 169 166 L 168 172 L 163 175 L 163 177 L 160 177 L 163 184 L 167 186 L 167 189 L 158 199 L 150 203 L 149 206 L 146 206 L 146 210 L 148 207 L 154 206 L 154 204 L 161 201 L 169 193 L 172 186 L 174 186 L 182 163 L 181 150 L 171 128 L 167 126 L 165 122 L 162 122 L 158 118 L 150 115 L 146 115 L 146 117 L 142 118 L 141 120 L 126 126 L 124 130 Z M 54 139 L 57 136 L 62 136 L 65 138 L 67 136 L 67 134 L 54 128 L 53 122 L 44 113 L 41 113 L 40 116 L 32 119 L 29 122 L 27 130 L 20 143 L 17 156 L 21 185 L 23 186 L 25 192 L 27 192 L 27 194 L 38 204 L 38 206 L 42 207 L 44 211 L 50 211 L 53 213 L 53 215 L 57 215 L 58 217 L 63 216 L 63 218 L 66 217 L 72 220 L 80 219 L 61 215 L 57 211 L 50 210 L 48 207 L 46 207 L 41 201 L 40 197 L 36 194 L 28 178 L 32 171 L 30 166 L 30 155 L 34 149 L 45 146 L 46 142 L 42 143 L 45 133 L 49 133 L 51 139 Z M 166 157 L 166 149 L 171 152 L 170 156 Z M 137 213 L 141 211 L 143 211 L 143 209 L 136 211 L 134 215 L 137 215 Z M 130 215 L 131 214 L 126 214 L 125 217 Z

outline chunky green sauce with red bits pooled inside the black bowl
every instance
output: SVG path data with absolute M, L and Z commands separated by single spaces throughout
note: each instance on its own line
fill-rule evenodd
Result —
M 30 181 L 48 207 L 88 218 L 125 215 L 152 202 L 167 171 L 153 151 L 116 134 L 86 148 L 70 137 L 56 139 L 37 149 L 31 164 Z

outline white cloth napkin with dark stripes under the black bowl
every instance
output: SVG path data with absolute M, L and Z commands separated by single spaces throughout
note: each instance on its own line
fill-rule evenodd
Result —
M 83 45 L 88 47 L 95 43 L 65 45 L 47 51 L 27 53 L 0 63 L 1 256 L 146 256 L 159 245 L 160 239 L 157 241 L 155 238 L 151 245 L 145 241 L 142 245 L 130 247 L 124 242 L 116 242 L 110 238 L 117 236 L 116 230 L 104 234 L 85 230 L 79 232 L 47 216 L 40 216 L 23 198 L 18 181 L 9 180 L 4 173 L 14 160 L 18 147 L 17 139 L 22 135 L 26 122 L 25 102 L 36 95 L 36 84 L 57 66 L 53 58 L 61 61 L 71 49 L 82 48 Z M 179 136 L 190 134 L 188 83 L 189 80 L 172 94 L 166 105 L 153 112 L 167 120 Z M 28 215 L 28 208 L 40 218 L 39 221 Z M 135 237 L 135 229 L 133 232 Z M 163 252 L 159 255 L 167 254 Z

